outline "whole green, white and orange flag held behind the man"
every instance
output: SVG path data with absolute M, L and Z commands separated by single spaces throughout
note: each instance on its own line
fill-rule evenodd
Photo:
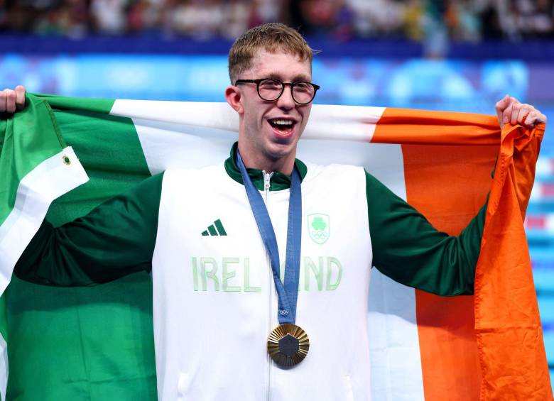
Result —
M 55 288 L 11 271 L 45 215 L 63 224 L 168 167 L 221 163 L 238 126 L 221 103 L 44 95 L 0 121 L 2 399 L 8 371 L 7 399 L 156 399 L 146 273 Z M 313 106 L 298 158 L 364 165 L 437 229 L 458 234 L 489 194 L 474 296 L 430 295 L 372 270 L 372 399 L 552 398 L 523 231 L 543 132 L 500 132 L 477 114 Z

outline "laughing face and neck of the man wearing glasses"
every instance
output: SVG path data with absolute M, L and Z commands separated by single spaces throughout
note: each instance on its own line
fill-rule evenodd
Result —
M 229 53 L 229 75 L 235 86 L 225 91 L 227 102 L 240 116 L 239 152 L 246 165 L 288 175 L 319 88 L 311 82 L 309 48 L 301 38 L 294 39 L 287 53 L 270 53 L 249 49 L 244 43 L 247 37 L 239 38 Z M 248 52 L 257 54 L 251 57 Z M 232 60 L 237 64 L 231 67 Z

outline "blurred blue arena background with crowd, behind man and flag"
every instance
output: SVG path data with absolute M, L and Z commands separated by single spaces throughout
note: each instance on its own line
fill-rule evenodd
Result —
M 0 0 L 0 87 L 224 101 L 227 51 L 271 21 L 321 50 L 316 103 L 494 114 L 509 93 L 550 119 L 526 228 L 554 373 L 551 0 Z

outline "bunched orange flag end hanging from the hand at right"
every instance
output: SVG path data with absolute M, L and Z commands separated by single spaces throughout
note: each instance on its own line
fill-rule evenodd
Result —
M 552 400 L 523 220 L 544 125 L 505 126 L 475 276 L 481 400 Z

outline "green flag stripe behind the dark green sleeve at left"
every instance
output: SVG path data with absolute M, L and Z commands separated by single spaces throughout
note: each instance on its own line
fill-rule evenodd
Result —
M 43 132 L 57 125 L 90 177 L 87 184 L 50 207 L 48 219 L 55 225 L 86 214 L 150 176 L 131 119 L 107 114 L 113 103 L 44 96 L 16 114 L 28 126 L 39 124 Z M 47 104 L 53 108 L 50 116 L 55 123 L 47 119 Z M 9 125 L 9 121 L 1 123 Z M 34 141 L 31 149 L 56 145 L 43 136 Z M 4 146 L 1 151 L 11 152 Z M 8 399 L 156 400 L 151 302 L 151 279 L 146 273 L 87 288 L 46 287 L 12 279 L 6 291 Z

